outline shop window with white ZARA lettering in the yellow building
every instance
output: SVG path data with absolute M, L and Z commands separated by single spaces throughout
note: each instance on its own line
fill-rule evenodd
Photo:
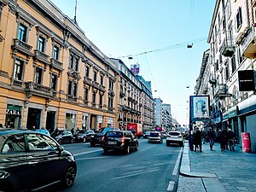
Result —
M 15 105 L 7 105 L 5 126 L 11 128 L 20 128 L 21 107 Z

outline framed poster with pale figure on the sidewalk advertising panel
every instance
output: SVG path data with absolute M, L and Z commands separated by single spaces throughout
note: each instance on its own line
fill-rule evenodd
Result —
M 190 115 L 192 120 L 210 119 L 209 96 L 190 96 Z

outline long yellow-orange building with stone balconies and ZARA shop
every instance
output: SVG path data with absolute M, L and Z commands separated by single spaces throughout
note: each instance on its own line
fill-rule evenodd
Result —
M 114 63 L 49 1 L 0 0 L 0 124 L 117 126 Z

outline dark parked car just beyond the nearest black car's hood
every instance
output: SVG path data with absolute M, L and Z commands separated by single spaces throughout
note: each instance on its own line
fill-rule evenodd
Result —
M 71 131 L 66 129 L 57 129 L 50 134 L 58 143 L 73 143 L 74 138 Z

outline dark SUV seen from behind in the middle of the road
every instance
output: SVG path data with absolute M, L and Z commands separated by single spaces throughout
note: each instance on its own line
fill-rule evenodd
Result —
M 130 154 L 131 149 L 138 149 L 137 137 L 131 131 L 107 131 L 102 140 L 105 154 L 109 150 L 119 150 Z

